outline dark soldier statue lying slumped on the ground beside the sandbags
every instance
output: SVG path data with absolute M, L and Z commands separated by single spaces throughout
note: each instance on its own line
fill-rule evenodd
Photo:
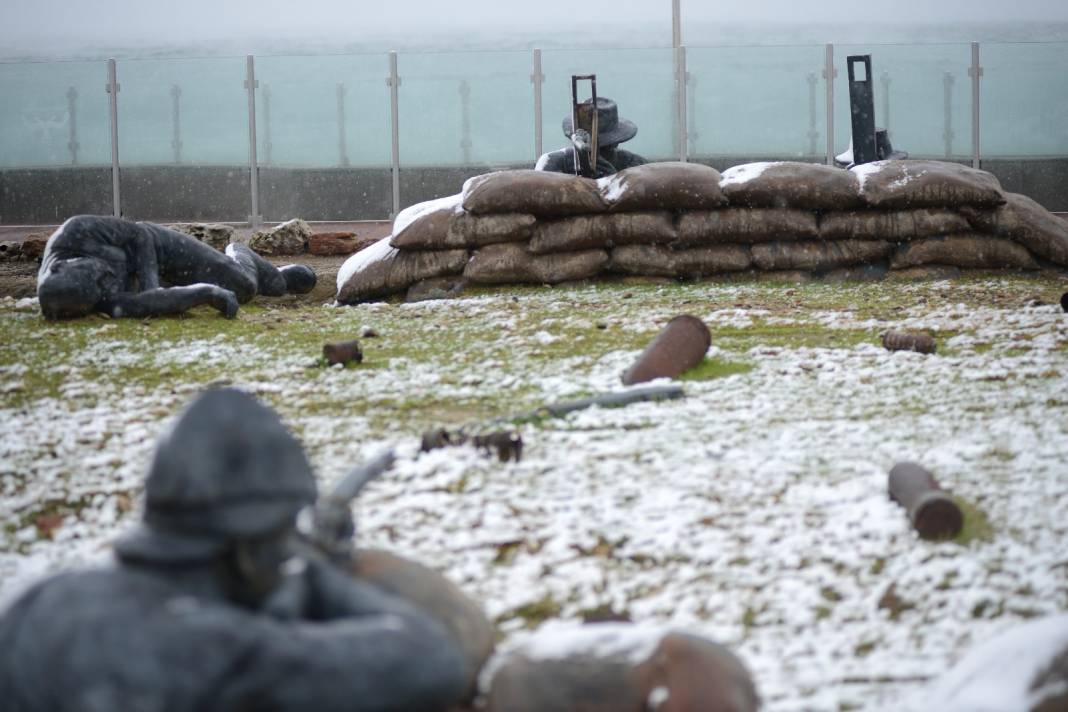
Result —
M 304 265 L 278 269 L 244 244 L 229 244 L 223 255 L 162 225 L 101 216 L 63 223 L 48 238 L 37 272 L 47 319 L 91 312 L 164 316 L 201 304 L 232 319 L 238 303 L 257 294 L 280 297 L 314 287 L 315 272 Z

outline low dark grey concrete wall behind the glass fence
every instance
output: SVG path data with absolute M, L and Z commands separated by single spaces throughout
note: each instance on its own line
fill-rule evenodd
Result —
M 719 170 L 768 157 L 702 159 Z M 406 168 L 400 207 L 458 193 L 472 175 L 501 168 Z M 1008 191 L 1048 209 L 1068 211 L 1068 158 L 990 159 L 983 168 Z M 251 212 L 249 170 L 239 165 L 160 165 L 121 171 L 123 215 L 159 222 L 246 222 Z M 57 224 L 72 215 L 111 213 L 111 169 L 65 167 L 0 170 L 0 225 Z M 267 222 L 383 220 L 392 210 L 388 168 L 260 169 L 260 213 Z

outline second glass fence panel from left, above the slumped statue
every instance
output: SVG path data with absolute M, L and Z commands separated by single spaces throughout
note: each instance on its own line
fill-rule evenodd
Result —
M 245 58 L 125 60 L 116 74 L 123 216 L 248 220 Z

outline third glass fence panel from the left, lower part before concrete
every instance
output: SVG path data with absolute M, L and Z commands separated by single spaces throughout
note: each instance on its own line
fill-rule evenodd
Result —
M 256 58 L 260 205 L 268 221 L 387 218 L 387 54 Z

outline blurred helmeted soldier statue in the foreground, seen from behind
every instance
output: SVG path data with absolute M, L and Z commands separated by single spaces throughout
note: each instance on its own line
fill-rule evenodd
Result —
M 470 670 L 440 623 L 295 555 L 314 499 L 273 411 L 236 390 L 202 395 L 160 439 L 116 565 L 46 580 L 0 616 L 0 707 L 450 709 Z

